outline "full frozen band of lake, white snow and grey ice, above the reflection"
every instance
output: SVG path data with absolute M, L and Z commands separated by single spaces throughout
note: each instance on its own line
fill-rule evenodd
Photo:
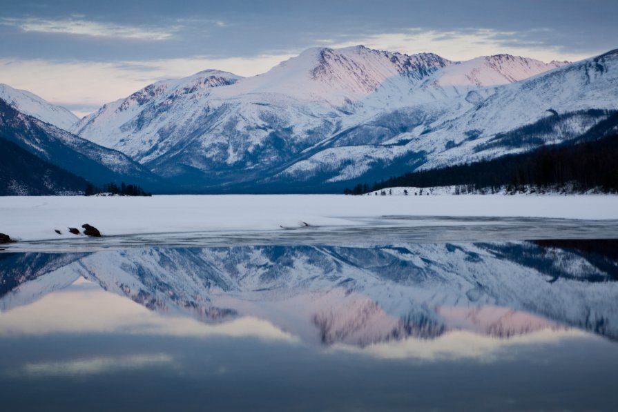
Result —
M 85 223 L 104 237 L 68 233 Z M 19 240 L 10 251 L 608 239 L 618 196 L 3 197 L 0 232 Z

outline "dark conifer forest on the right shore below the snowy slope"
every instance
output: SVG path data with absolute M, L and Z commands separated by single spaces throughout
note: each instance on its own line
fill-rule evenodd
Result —
M 345 194 L 364 193 L 397 186 L 465 186 L 467 191 L 489 189 L 510 192 L 526 188 L 555 190 L 570 188 L 576 192 L 599 189 L 618 191 L 618 135 L 612 134 L 575 146 L 542 146 L 529 153 L 508 155 L 489 161 L 450 166 L 346 188 Z

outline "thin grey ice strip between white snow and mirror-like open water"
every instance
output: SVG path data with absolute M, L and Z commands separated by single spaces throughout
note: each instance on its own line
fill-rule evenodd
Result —
M 545 217 L 385 216 L 349 219 L 345 226 L 296 226 L 277 229 L 204 230 L 64 236 L 22 240 L 6 251 L 99 251 L 139 246 L 216 247 L 240 245 L 354 245 L 399 242 L 496 242 L 518 239 L 615 239 L 618 220 L 550 219 Z M 77 226 L 79 227 L 79 226 Z

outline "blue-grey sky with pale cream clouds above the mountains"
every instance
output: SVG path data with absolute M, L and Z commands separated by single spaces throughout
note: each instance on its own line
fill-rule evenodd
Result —
M 252 76 L 320 46 L 577 61 L 618 48 L 616 0 L 0 0 L 0 83 L 80 117 L 161 79 Z

